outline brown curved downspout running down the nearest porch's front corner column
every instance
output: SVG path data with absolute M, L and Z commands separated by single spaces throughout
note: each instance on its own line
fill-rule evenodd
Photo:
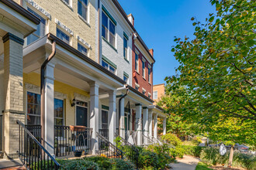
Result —
M 43 62 L 41 66 L 41 73 L 40 73 L 40 94 L 41 94 L 41 138 L 43 139 L 42 142 L 44 143 L 44 137 L 45 137 L 45 110 L 44 110 L 44 72 L 45 68 L 47 67 L 47 64 L 50 63 L 50 60 L 54 58 L 56 54 L 56 41 L 54 40 L 52 42 L 52 52 L 50 53 L 50 56 L 47 57 L 47 59 Z M 54 113 L 53 113 L 54 114 Z M 42 144 L 43 144 L 42 143 Z

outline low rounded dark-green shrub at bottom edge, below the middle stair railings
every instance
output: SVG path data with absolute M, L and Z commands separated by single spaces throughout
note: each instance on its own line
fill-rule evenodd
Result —
M 125 170 L 133 170 L 135 169 L 135 166 L 132 162 L 125 161 L 121 158 L 112 158 L 110 160 L 112 164 L 112 170 L 119 170 L 119 169 L 125 169 Z

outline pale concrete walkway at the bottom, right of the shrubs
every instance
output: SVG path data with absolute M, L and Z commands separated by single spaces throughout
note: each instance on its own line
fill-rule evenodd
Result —
M 184 155 L 182 159 L 177 160 L 177 163 L 171 164 L 170 170 L 195 170 L 199 161 L 199 158 Z

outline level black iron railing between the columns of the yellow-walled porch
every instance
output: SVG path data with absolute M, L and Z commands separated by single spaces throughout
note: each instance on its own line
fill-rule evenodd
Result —
M 71 131 L 69 126 L 54 126 L 54 153 L 56 157 L 73 155 L 74 151 L 91 153 L 92 128 L 82 131 Z

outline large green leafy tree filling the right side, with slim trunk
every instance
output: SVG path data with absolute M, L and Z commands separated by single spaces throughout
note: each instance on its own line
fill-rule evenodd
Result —
M 168 91 L 181 100 L 170 110 L 202 124 L 202 131 L 220 141 L 255 145 L 256 2 L 210 2 L 216 15 L 209 14 L 204 24 L 192 17 L 195 38 L 175 37 L 171 51 L 180 66 L 177 75 L 165 80 Z

